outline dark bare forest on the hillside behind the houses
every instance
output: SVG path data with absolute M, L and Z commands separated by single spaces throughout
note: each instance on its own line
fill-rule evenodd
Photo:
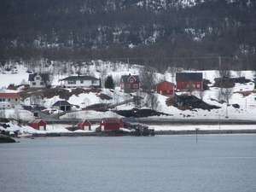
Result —
M 254 1 L 183 2 L 2 0 L 0 61 L 256 70 Z

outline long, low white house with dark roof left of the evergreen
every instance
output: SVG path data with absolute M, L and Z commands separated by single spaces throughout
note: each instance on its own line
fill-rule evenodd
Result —
M 98 88 L 101 86 L 100 79 L 90 76 L 69 76 L 61 79 L 61 85 L 66 88 Z

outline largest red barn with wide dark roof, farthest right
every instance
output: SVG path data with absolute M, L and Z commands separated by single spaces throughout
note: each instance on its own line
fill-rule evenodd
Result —
M 202 90 L 202 73 L 176 73 L 177 90 Z

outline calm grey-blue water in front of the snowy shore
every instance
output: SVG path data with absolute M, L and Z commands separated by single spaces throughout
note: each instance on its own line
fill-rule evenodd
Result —
M 0 191 L 256 191 L 256 135 L 47 137 L 0 145 Z

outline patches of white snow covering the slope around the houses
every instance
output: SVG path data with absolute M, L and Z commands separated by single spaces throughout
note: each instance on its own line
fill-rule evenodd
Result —
M 115 82 L 119 81 L 119 78 L 122 74 L 127 74 L 127 73 L 131 73 L 131 74 L 139 74 L 140 72 L 140 67 L 134 65 L 134 66 L 129 66 L 127 67 L 127 64 L 119 64 L 119 66 L 115 66 L 113 69 L 113 64 L 111 65 L 110 63 L 106 63 L 106 62 L 99 62 L 99 66 L 102 69 L 105 69 L 104 71 L 104 77 L 106 77 L 108 74 L 112 74 L 113 75 L 113 79 Z M 112 67 L 111 67 L 112 66 Z M 9 86 L 9 84 L 28 84 L 27 79 L 28 79 L 28 73 L 26 73 L 26 67 L 19 65 L 16 67 L 16 73 L 11 73 L 11 72 L 3 72 L 0 73 L 0 88 L 1 91 L 6 91 L 6 92 L 19 92 L 23 86 L 20 86 L 20 88 L 18 90 L 7 90 L 6 87 Z M 85 70 L 85 69 L 83 69 Z M 86 69 L 87 70 L 87 69 Z M 101 77 L 101 72 L 97 72 L 96 70 L 96 65 L 91 66 L 90 70 L 90 74 L 93 74 L 95 77 L 100 78 Z M 203 71 L 203 78 L 204 79 L 208 79 L 212 84 L 214 84 L 214 78 L 217 77 L 217 73 L 215 71 Z M 251 71 L 244 71 L 242 72 L 243 76 L 246 77 L 246 79 L 251 79 L 253 80 L 253 72 Z M 61 78 L 65 78 L 68 76 L 68 73 L 66 74 L 55 74 L 55 81 L 54 81 L 54 86 L 59 85 L 59 81 L 58 79 Z M 236 73 L 233 72 L 233 76 L 236 77 Z M 156 82 L 160 79 L 166 79 L 169 81 L 173 81 L 175 79 L 173 79 L 172 77 L 172 73 L 166 72 L 164 74 L 161 73 L 157 73 L 156 74 Z M 175 83 L 175 82 L 173 82 Z M 234 93 L 233 96 L 230 99 L 230 106 L 228 106 L 225 102 L 224 103 L 219 103 L 217 102 L 217 98 L 216 98 L 216 92 L 218 91 L 218 88 L 216 87 L 212 87 L 212 84 L 208 84 L 210 86 L 210 90 L 205 90 L 205 95 L 203 96 L 203 101 L 207 102 L 211 105 L 216 105 L 218 107 L 220 107 L 219 109 L 212 109 L 210 111 L 207 110 L 202 110 L 202 109 L 195 109 L 193 111 L 191 110 L 179 110 L 177 108 L 174 108 L 172 106 L 166 106 L 166 96 L 161 96 L 161 95 L 157 95 L 158 98 L 158 102 L 160 103 L 158 105 L 157 110 L 159 112 L 162 113 L 168 113 L 171 114 L 172 116 L 166 116 L 166 115 L 161 115 L 161 116 L 157 116 L 157 117 L 148 117 L 148 118 L 153 118 L 153 119 L 247 119 L 247 120 L 251 120 L 251 119 L 255 119 L 255 114 L 256 114 L 256 93 L 253 93 L 253 82 L 249 82 L 247 84 L 236 84 L 235 88 L 234 88 Z M 242 91 L 248 91 L 249 95 L 248 96 L 243 96 L 241 93 Z M 97 96 L 98 94 L 105 94 L 108 95 L 110 97 L 112 97 L 112 100 L 102 100 L 99 96 Z M 115 90 L 108 90 L 108 89 L 103 89 L 101 93 L 83 93 L 80 94 L 79 96 L 71 96 L 67 102 L 73 104 L 73 106 L 78 106 L 77 108 L 73 108 L 73 110 L 76 112 L 76 118 L 77 119 L 95 119 L 95 117 L 99 117 L 99 118 L 103 118 L 103 117 L 119 117 L 119 115 L 117 115 L 116 113 L 113 113 L 111 110 L 107 111 L 107 112 L 94 112 L 94 111 L 83 111 L 82 108 L 88 106 L 88 105 L 92 105 L 92 104 L 96 104 L 96 103 L 114 103 L 114 102 L 122 102 L 125 101 L 127 99 L 130 99 L 131 96 L 129 94 L 125 94 L 123 92 L 120 91 L 119 86 L 117 86 L 115 88 Z M 143 98 L 146 98 L 146 94 L 142 93 Z M 181 94 L 181 93 L 177 93 L 177 94 Z M 192 93 L 193 94 L 193 93 Z M 47 108 L 47 110 L 50 110 L 51 105 L 56 102 L 57 100 L 59 100 L 60 98 L 58 96 L 54 96 L 52 98 L 44 98 L 44 101 L 42 102 L 42 104 L 44 105 L 45 108 Z M 114 101 L 113 101 L 114 100 Z M 145 99 L 142 101 L 141 107 L 144 107 L 144 103 L 145 103 Z M 22 104 L 24 105 L 30 105 L 30 100 L 26 99 Z M 232 104 L 238 104 L 240 106 L 240 108 L 234 108 L 232 107 Z M 135 105 L 134 103 L 130 102 L 130 103 L 126 103 L 124 105 L 120 105 L 118 107 L 116 107 L 115 109 L 117 110 L 125 110 L 125 109 L 131 109 L 134 108 Z M 15 112 L 20 113 L 21 119 L 24 120 L 29 120 L 32 119 L 33 115 L 32 113 L 24 110 L 23 108 L 16 108 L 16 109 L 6 109 L 4 111 L 4 116 L 6 118 L 9 117 L 14 117 L 15 116 Z M 58 113 L 58 112 L 55 112 Z M 2 113 L 3 114 L 3 113 Z M 61 119 L 70 119 L 70 115 L 66 114 L 61 116 Z M 170 126 L 168 126 L 169 129 L 173 129 L 170 128 Z M 17 127 L 15 127 L 17 128 Z M 187 127 L 189 129 L 189 127 Z M 252 128 L 252 127 L 251 127 Z M 30 128 L 26 127 L 24 129 L 29 129 L 31 131 Z M 50 127 L 49 125 L 49 130 L 53 131 L 54 127 Z M 161 128 L 159 127 L 159 129 L 165 129 L 164 126 L 162 126 Z M 166 129 L 168 129 L 166 127 Z M 178 129 L 178 127 L 176 128 Z M 179 129 L 184 129 L 184 127 L 179 127 Z M 194 129 L 194 128 L 193 128 Z M 206 129 L 206 128 L 205 128 Z M 56 130 L 55 130 L 56 131 Z

